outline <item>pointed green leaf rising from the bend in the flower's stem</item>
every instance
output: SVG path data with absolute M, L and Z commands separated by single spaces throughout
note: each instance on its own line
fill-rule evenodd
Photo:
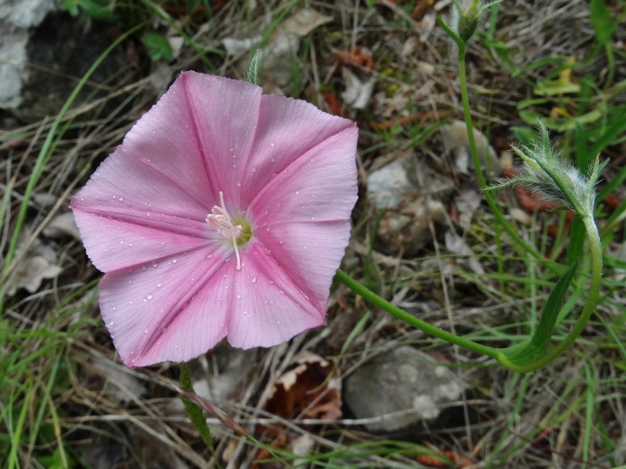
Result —
M 556 319 L 559 318 L 559 311 L 561 310 L 563 299 L 565 299 L 565 294 L 568 292 L 577 267 L 578 260 L 572 263 L 570 268 L 568 268 L 559 281 L 556 282 L 554 290 L 550 293 L 543 307 L 541 318 L 530 340 L 513 345 L 513 347 L 508 347 L 502 351 L 508 361 L 520 367 L 527 367 L 536 363 L 545 355 L 550 340 L 552 340 L 552 331 L 554 331 Z

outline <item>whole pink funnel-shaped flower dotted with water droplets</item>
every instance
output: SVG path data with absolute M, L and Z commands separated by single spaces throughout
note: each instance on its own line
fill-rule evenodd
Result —
M 319 326 L 357 199 L 358 129 L 243 81 L 186 72 L 72 199 L 129 366 Z

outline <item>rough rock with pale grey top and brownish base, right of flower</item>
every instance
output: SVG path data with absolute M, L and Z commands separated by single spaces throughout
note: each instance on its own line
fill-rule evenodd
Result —
M 367 197 L 377 211 L 384 210 L 376 236 L 387 254 L 415 254 L 431 240 L 429 222 L 445 221 L 444 201 L 454 182 L 428 166 L 416 154 L 407 154 L 367 177 Z

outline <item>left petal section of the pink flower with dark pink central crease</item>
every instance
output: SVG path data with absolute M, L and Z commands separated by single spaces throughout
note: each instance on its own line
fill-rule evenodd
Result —
M 87 254 L 103 272 L 214 244 L 208 209 L 118 147 L 72 198 Z

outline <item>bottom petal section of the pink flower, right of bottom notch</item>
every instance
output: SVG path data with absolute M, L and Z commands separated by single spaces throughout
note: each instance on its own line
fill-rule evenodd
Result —
M 231 345 L 270 347 L 323 324 L 328 290 L 323 302 L 312 301 L 258 241 L 246 246 L 241 262 L 230 286 Z

